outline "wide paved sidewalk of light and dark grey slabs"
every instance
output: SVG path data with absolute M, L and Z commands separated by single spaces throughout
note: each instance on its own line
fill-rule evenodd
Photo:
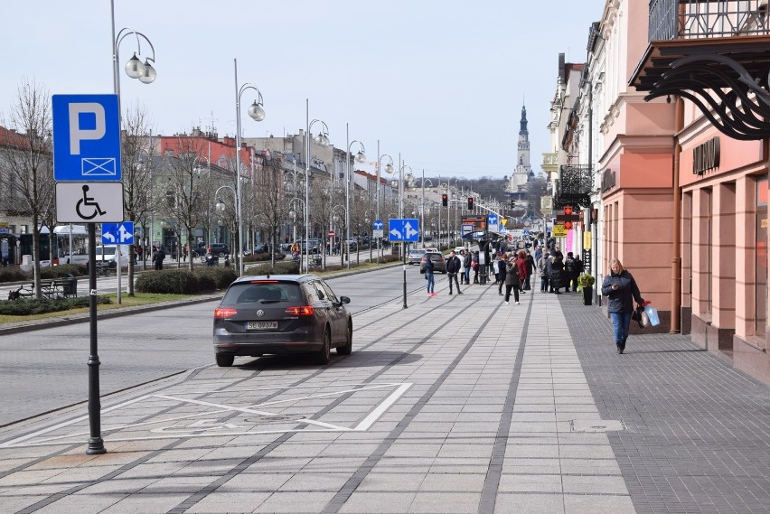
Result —
M 770 392 L 577 294 L 356 315 L 326 368 L 264 358 L 0 431 L 0 512 L 766 512 Z

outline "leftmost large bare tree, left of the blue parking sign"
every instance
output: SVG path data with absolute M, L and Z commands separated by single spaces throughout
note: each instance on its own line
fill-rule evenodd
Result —
M 4 185 L 10 188 L 9 194 L 32 219 L 35 296 L 42 298 L 40 229 L 44 223 L 51 226 L 54 208 L 51 95 L 25 80 L 7 119 L 0 117 L 0 125 L 16 131 L 0 132 L 0 155 L 5 161 L 2 174 L 7 177 Z

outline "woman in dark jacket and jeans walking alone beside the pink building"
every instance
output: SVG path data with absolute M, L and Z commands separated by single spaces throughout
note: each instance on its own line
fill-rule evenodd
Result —
M 631 314 L 634 313 L 634 300 L 640 305 L 647 303 L 639 293 L 634 276 L 623 268 L 617 258 L 610 261 L 610 274 L 605 276 L 602 283 L 602 294 L 607 296 L 607 312 L 612 318 L 615 347 L 622 354 L 631 326 Z

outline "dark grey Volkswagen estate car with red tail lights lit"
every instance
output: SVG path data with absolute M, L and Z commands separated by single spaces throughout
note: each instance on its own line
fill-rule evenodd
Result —
M 313 353 L 326 364 L 332 348 L 348 355 L 350 301 L 314 275 L 242 276 L 214 310 L 214 359 L 226 367 L 237 356 Z

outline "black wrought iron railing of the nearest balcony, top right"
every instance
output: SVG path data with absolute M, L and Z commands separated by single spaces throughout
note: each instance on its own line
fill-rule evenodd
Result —
M 652 0 L 650 41 L 770 34 L 767 0 Z

